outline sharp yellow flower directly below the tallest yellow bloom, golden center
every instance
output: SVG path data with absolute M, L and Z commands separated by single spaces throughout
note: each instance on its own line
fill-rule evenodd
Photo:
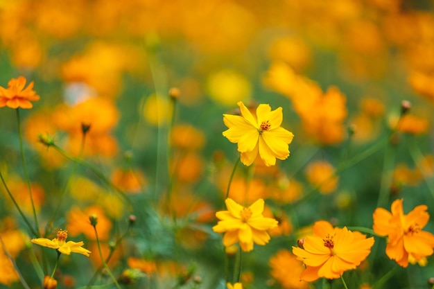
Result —
M 228 211 L 218 211 L 216 217 L 220 220 L 212 229 L 217 233 L 225 233 L 223 245 L 229 247 L 240 243 L 245 252 L 252 251 L 253 243 L 266 245 L 270 240 L 268 229 L 277 227 L 277 220 L 264 218 L 262 215 L 264 202 L 259 199 L 246 208 L 227 198 L 225 204 Z

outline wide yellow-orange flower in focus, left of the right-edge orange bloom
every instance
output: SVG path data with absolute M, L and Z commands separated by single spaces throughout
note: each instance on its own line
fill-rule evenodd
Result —
M 293 247 L 297 259 L 304 262 L 306 270 L 300 275 L 304 281 L 318 278 L 339 278 L 343 272 L 355 269 L 365 260 L 374 245 L 374 238 L 366 238 L 358 231 L 333 226 L 327 221 L 313 225 L 313 236 L 307 236 L 301 247 Z

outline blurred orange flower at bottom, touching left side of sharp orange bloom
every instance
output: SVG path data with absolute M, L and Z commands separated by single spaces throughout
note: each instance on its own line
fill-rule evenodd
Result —
M 300 281 L 300 274 L 304 270 L 302 262 L 286 249 L 281 249 L 268 261 L 270 275 L 281 283 L 284 289 L 305 289 L 309 288 L 306 281 Z

